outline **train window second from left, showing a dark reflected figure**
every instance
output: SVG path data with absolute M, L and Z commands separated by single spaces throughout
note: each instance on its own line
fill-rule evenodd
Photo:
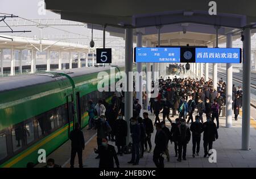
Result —
M 26 128 L 24 128 L 22 123 L 16 124 L 13 129 L 11 130 L 11 136 L 13 139 L 13 151 L 17 151 L 18 149 L 22 148 L 24 144 L 24 139 L 26 136 Z

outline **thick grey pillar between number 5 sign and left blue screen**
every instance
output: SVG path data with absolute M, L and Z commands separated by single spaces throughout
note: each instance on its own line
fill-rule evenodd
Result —
M 130 143 L 130 118 L 133 116 L 133 77 L 129 77 L 129 72 L 133 73 L 133 29 L 125 29 L 125 120 L 128 125 L 128 135 L 126 143 Z

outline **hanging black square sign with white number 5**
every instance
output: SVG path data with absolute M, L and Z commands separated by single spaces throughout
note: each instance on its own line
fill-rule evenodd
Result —
M 112 63 L 112 49 L 111 48 L 97 48 L 97 64 Z

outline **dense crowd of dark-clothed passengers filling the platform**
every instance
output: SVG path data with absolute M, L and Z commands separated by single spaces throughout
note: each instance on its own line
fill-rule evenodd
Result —
M 158 82 L 158 97 L 150 98 L 148 105 L 146 104 L 148 97 L 146 92 L 143 92 L 142 104 L 139 103 L 134 92 L 133 117 L 128 123 L 125 120 L 123 91 L 115 92 L 110 102 L 102 99 L 96 105 L 92 101 L 88 102 L 88 130 L 97 131 L 97 148 L 94 148 L 94 152 L 98 154 L 96 159 L 100 159 L 100 168 L 113 168 L 114 161 L 119 167 L 118 155 L 123 156 L 129 153 L 131 153 L 131 160 L 128 163 L 139 165 L 144 152 L 152 151 L 151 137 L 154 133 L 154 126 L 156 134 L 152 160 L 156 167 L 164 167 L 164 159 L 170 161 L 169 143 L 174 144 L 177 161 L 187 160 L 187 144 L 191 136 L 192 157 L 199 156 L 202 134 L 204 157 L 211 155 L 209 151 L 213 147 L 213 141 L 218 139 L 220 127 L 218 118 L 225 109 L 225 82 L 221 78 L 217 89 L 213 89 L 212 80 L 205 81 L 204 78 L 176 78 L 175 76 L 173 80 L 170 77 L 163 80 L 161 77 Z M 235 120 L 237 120 L 242 107 L 242 90 L 241 87 L 237 90 L 234 85 L 232 106 Z M 148 113 L 151 116 L 154 115 L 154 119 L 150 118 Z M 160 114 L 162 114 L 161 119 Z M 166 119 L 171 125 L 167 125 Z M 131 137 L 129 144 L 126 141 L 128 135 Z M 79 166 L 82 168 L 82 151 L 85 148 L 85 141 L 78 123 L 75 124 L 75 130 L 71 131 L 70 139 L 72 145 L 70 165 L 74 167 L 77 153 Z M 115 147 L 109 144 L 109 140 L 115 143 L 117 152 Z M 51 167 L 55 166 L 54 161 L 49 163 Z

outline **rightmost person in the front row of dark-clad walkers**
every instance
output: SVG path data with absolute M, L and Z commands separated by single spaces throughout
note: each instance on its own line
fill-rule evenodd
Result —
M 207 118 L 207 122 L 203 124 L 203 140 L 204 140 L 204 157 L 210 156 L 209 150 L 212 149 L 213 141 L 218 139 L 218 131 L 216 124 Z

